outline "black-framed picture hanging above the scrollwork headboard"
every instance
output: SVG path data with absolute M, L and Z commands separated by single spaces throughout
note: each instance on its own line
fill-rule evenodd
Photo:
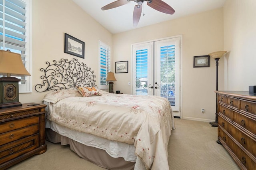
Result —
M 65 33 L 64 53 L 84 58 L 84 42 Z

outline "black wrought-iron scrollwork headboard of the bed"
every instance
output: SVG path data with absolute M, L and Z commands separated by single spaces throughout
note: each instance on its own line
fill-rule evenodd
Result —
M 85 63 L 79 63 L 76 58 L 70 61 L 68 59 L 60 59 L 58 62 L 53 60 L 53 63 L 47 61 L 46 64 L 48 65 L 46 69 L 40 69 L 44 73 L 40 77 L 43 80 L 42 84 L 35 86 L 38 92 L 75 89 L 76 85 L 97 88 L 94 71 L 91 71 Z

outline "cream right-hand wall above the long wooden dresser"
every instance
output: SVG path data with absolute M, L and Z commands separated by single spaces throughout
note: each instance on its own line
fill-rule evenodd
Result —
M 226 0 L 224 4 L 224 87 L 248 91 L 256 85 L 255 0 Z

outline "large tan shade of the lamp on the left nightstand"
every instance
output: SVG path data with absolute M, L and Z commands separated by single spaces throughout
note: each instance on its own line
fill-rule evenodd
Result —
M 0 75 L 28 76 L 30 73 L 24 67 L 20 54 L 0 50 Z

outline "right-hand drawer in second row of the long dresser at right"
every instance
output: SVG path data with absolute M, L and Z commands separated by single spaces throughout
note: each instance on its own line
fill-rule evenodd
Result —
M 256 120 L 246 115 L 233 111 L 234 122 L 256 135 Z

